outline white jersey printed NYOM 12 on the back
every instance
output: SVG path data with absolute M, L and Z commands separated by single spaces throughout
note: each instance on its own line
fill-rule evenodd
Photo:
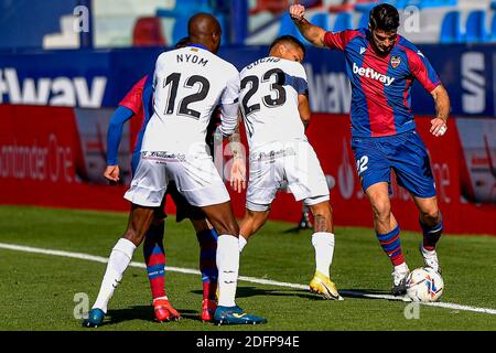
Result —
M 209 51 L 186 46 L 158 57 L 153 87 L 153 115 L 141 150 L 194 153 L 205 151 L 217 104 L 237 106 L 239 73 Z

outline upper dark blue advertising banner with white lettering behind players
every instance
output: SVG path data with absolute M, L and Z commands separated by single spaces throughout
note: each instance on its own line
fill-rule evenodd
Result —
M 496 117 L 496 54 L 490 45 L 422 45 L 450 93 L 455 116 Z M 154 68 L 162 49 L 0 53 L 0 104 L 116 107 Z M 238 69 L 268 54 L 267 46 L 223 47 Z M 304 61 L 312 111 L 348 114 L 351 87 L 338 51 L 308 47 Z M 412 86 L 417 115 L 434 111 L 432 97 Z

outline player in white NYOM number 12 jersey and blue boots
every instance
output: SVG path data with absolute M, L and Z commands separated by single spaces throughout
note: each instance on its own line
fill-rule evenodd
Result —
M 154 72 L 153 109 L 144 132 L 141 159 L 125 197 L 131 202 L 129 224 L 114 247 L 98 298 L 84 322 L 95 327 L 107 312 L 108 301 L 122 278 L 132 254 L 141 244 L 169 182 L 175 182 L 187 202 L 198 206 L 219 234 L 217 243 L 218 324 L 265 323 L 235 303 L 239 269 L 239 226 L 229 194 L 212 157 L 205 133 L 213 109 L 220 104 L 220 131 L 225 137 L 237 126 L 239 73 L 216 56 L 220 25 L 206 13 L 188 21 L 191 45 L 162 53 Z

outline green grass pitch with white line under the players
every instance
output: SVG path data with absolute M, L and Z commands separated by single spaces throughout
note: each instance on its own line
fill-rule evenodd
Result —
M 127 214 L 0 206 L 0 243 L 108 257 L 127 225 Z M 308 285 L 314 271 L 311 232 L 284 234 L 293 224 L 269 222 L 241 255 L 241 276 Z M 197 269 L 198 246 L 188 222 L 166 220 L 168 266 Z M 371 229 L 336 228 L 331 277 L 339 290 L 389 293 L 390 263 Z M 410 269 L 420 267 L 419 233 L 403 232 Z M 443 302 L 496 309 L 496 237 L 444 236 Z M 143 261 L 142 247 L 134 261 Z M 83 259 L 0 248 L 0 330 L 87 330 L 74 318 L 74 295 L 93 304 L 106 265 Z M 408 303 L 346 297 L 326 301 L 304 290 L 238 282 L 237 303 L 266 317 L 265 325 L 215 327 L 200 321 L 201 278 L 166 271 L 166 290 L 183 320 L 153 321 L 150 289 L 142 268 L 127 269 L 98 330 L 496 330 L 496 315 L 421 306 L 420 319 L 407 320 Z

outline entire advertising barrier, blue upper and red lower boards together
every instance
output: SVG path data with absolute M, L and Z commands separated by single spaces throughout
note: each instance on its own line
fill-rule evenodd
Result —
M 450 132 L 429 136 L 418 118 L 432 167 L 446 231 L 496 234 L 496 56 L 485 45 L 422 45 L 452 100 Z M 129 126 L 120 146 L 122 184 L 106 185 L 108 119 L 132 85 L 153 69 L 162 49 L 17 51 L 0 53 L 0 203 L 127 211 Z M 223 47 L 237 68 L 267 55 L 267 46 Z M 330 185 L 336 224 L 371 226 L 349 149 L 351 87 L 343 54 L 309 47 L 313 121 L 308 131 Z M 412 88 L 418 116 L 434 110 L 420 85 Z M 133 120 L 131 120 L 131 125 Z M 226 157 L 229 158 L 229 157 Z M 419 229 L 408 194 L 393 183 L 393 211 L 406 229 Z M 233 194 L 242 215 L 244 194 Z M 298 222 L 301 205 L 281 192 L 271 217 Z M 174 213 L 170 202 L 168 211 Z

